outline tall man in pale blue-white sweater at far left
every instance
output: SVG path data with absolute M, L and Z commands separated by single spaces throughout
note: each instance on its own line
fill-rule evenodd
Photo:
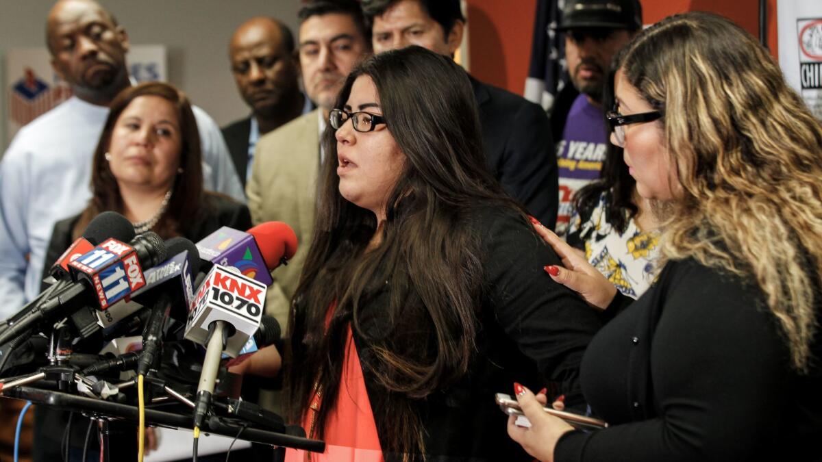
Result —
M 91 158 L 108 104 L 131 85 L 126 31 L 96 2 L 57 2 L 46 35 L 54 72 L 74 95 L 21 128 L 0 161 L 0 319 L 39 293 L 53 225 L 89 201 Z M 245 201 L 219 127 L 193 109 L 203 187 Z

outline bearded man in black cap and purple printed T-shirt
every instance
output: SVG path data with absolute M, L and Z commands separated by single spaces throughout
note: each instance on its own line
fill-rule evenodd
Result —
M 639 0 L 566 0 L 557 31 L 565 33 L 570 81 L 557 95 L 551 125 L 559 164 L 556 233 L 566 232 L 575 192 L 599 178 L 607 150 L 603 108 L 611 60 L 642 27 Z

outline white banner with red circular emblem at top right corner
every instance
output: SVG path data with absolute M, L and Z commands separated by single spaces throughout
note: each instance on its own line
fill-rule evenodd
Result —
M 822 119 L 822 2 L 777 2 L 779 66 L 787 83 Z

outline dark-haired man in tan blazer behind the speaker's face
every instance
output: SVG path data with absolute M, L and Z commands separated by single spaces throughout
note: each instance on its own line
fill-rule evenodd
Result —
M 288 326 L 291 297 L 314 232 L 321 133 L 337 93 L 354 64 L 371 51 L 356 0 L 317 0 L 299 12 L 298 55 L 302 86 L 318 108 L 262 136 L 246 192 L 254 223 L 291 225 L 300 246 L 289 266 L 272 273 L 266 313 Z

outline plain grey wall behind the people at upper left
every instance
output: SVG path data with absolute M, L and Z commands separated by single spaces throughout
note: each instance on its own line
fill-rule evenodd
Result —
M 167 47 L 169 81 L 219 125 L 248 113 L 229 71 L 228 43 L 233 30 L 252 16 L 274 16 L 289 25 L 296 39 L 301 7 L 300 0 L 99 2 L 126 28 L 132 44 Z M 48 0 L 0 0 L 0 53 L 4 56 L 7 49 L 45 46 L 45 19 L 52 5 Z M 5 95 L 0 100 L 5 104 Z M 7 108 L 2 108 L 3 121 L 6 113 Z M 0 126 L 4 131 L 5 123 Z M 2 135 L 5 150 L 9 140 Z

